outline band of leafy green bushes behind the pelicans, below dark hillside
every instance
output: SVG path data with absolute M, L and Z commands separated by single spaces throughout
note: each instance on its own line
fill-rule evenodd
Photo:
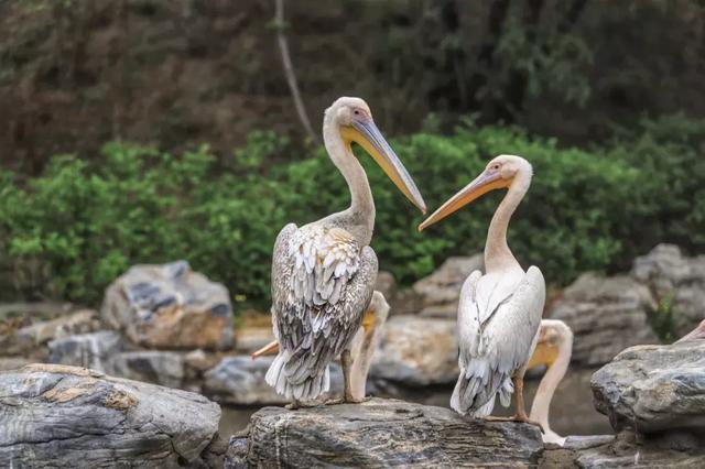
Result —
M 702 250 L 705 126 L 646 123 L 609 149 L 562 149 L 520 130 L 467 124 L 452 135 L 421 133 L 392 142 L 431 209 L 466 185 L 490 157 L 525 156 L 532 188 L 509 231 L 524 265 L 566 284 L 586 270 L 628 269 L 655 241 Z M 699 126 L 699 127 L 698 127 Z M 670 129 L 670 130 L 669 130 Z M 271 251 L 289 221 L 303 225 L 349 204 L 325 152 L 284 161 L 290 143 L 253 133 L 225 167 L 208 148 L 182 155 L 119 143 L 100 160 L 55 156 L 39 177 L 0 173 L 1 270 L 25 296 L 97 303 L 134 263 L 186 259 L 224 282 L 237 299 L 264 306 Z M 377 205 L 372 247 L 381 269 L 402 283 L 452 254 L 482 249 L 500 193 L 416 231 L 423 216 L 362 152 Z M 695 200 L 701 208 L 694 209 Z

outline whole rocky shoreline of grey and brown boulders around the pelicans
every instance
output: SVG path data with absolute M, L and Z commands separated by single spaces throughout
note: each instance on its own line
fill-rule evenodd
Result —
M 478 266 L 478 257 L 449 259 L 409 290 L 381 273 L 392 310 L 368 391 L 387 399 L 265 407 L 232 437 L 218 434 L 220 405 L 247 406 L 249 417 L 252 406 L 283 404 L 263 382 L 269 359 L 249 357 L 271 329 L 236 332 L 227 290 L 186 263 L 131 269 L 100 312 L 0 305 L 0 466 L 705 467 L 704 335 L 659 345 L 655 327 L 671 325 L 672 341 L 703 319 L 705 257 L 659 246 L 629 274 L 588 273 L 552 298 L 545 316 L 575 335 L 551 405 L 552 429 L 572 435 L 563 447 L 530 426 L 446 408 L 459 285 Z

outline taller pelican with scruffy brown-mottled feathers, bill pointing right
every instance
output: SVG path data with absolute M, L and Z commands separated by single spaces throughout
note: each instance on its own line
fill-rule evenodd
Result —
M 350 345 L 372 298 L 377 255 L 369 247 L 375 201 L 355 142 L 416 207 L 426 207 L 411 176 L 359 98 L 339 98 L 325 111 L 323 140 L 350 190 L 346 210 L 297 228 L 289 223 L 274 243 L 272 326 L 280 349 L 265 381 L 296 408 L 330 386 L 328 364 L 340 357 L 343 402 L 351 393 Z

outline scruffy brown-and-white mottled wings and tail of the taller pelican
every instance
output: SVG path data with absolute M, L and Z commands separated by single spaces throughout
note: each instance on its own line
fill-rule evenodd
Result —
M 328 364 L 360 327 L 377 269 L 375 251 L 360 250 L 341 228 L 282 230 L 272 266 L 272 318 L 281 350 L 270 381 L 278 391 L 312 399 L 327 390 Z

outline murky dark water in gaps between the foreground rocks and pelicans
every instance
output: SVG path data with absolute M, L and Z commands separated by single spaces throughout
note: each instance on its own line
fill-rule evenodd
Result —
M 560 435 L 599 435 L 611 434 L 611 427 L 606 416 L 595 411 L 589 379 L 593 370 L 568 371 L 558 385 L 551 403 L 551 428 Z M 531 408 L 533 395 L 539 385 L 539 379 L 528 380 L 524 386 L 527 410 Z M 453 388 L 434 386 L 415 391 L 404 390 L 394 395 L 380 392 L 382 397 L 403 399 L 425 405 L 448 407 Z M 232 435 L 245 429 L 250 416 L 260 407 L 223 407 L 220 418 L 220 434 Z M 513 410 L 501 405 L 495 407 L 495 415 L 511 415 Z

